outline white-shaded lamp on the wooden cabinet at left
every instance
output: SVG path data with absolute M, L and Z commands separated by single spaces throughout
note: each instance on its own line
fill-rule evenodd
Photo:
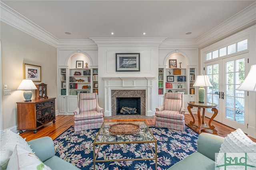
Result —
M 32 82 L 32 80 L 24 79 L 20 83 L 20 86 L 17 90 L 25 90 L 23 92 L 23 96 L 25 98 L 24 102 L 31 102 L 32 92 L 31 90 L 36 90 L 36 85 Z

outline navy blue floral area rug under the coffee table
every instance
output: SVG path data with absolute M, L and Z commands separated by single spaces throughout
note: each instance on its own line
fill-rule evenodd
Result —
M 198 134 L 186 126 L 185 131 L 149 126 L 157 140 L 157 169 L 166 170 L 197 150 Z M 74 132 L 71 126 L 54 139 L 56 156 L 82 170 L 93 170 L 93 141 L 99 129 Z M 155 149 L 153 143 L 150 144 Z M 95 146 L 98 149 L 98 145 Z M 148 143 L 102 145 L 101 159 L 152 158 Z M 153 160 L 96 162 L 96 170 L 154 170 Z

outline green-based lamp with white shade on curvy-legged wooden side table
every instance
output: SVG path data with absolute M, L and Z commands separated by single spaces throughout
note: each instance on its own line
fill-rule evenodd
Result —
M 204 103 L 204 96 L 205 96 L 205 88 L 206 87 L 212 87 L 212 84 L 210 83 L 209 77 L 207 75 L 200 75 L 196 76 L 196 82 L 193 84 L 193 87 L 198 86 L 199 90 L 199 103 Z

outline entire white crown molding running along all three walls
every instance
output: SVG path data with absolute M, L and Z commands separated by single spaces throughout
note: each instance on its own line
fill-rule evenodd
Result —
M 232 16 L 198 39 L 167 39 L 156 38 L 90 38 L 84 40 L 60 40 L 48 31 L 42 29 L 36 23 L 28 20 L 18 12 L 0 1 L 0 20 L 7 23 L 32 37 L 35 37 L 53 47 L 60 49 L 98 49 L 98 47 L 159 47 L 159 49 L 172 48 L 198 48 L 211 42 L 222 39 L 232 32 L 245 29 L 256 24 L 256 2 L 238 14 Z

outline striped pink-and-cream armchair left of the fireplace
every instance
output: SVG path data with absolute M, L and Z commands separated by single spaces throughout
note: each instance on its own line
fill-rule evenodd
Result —
M 74 130 L 100 128 L 103 123 L 103 109 L 98 104 L 96 93 L 80 93 L 74 110 Z

